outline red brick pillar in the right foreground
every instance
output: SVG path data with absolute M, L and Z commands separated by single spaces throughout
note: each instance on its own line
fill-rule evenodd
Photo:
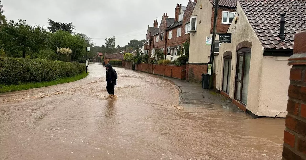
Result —
M 306 160 L 306 32 L 296 34 L 290 71 L 283 160 Z

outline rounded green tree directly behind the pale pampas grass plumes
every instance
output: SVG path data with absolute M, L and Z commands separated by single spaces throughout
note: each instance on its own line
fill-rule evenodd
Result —
M 79 61 L 84 55 L 86 42 L 80 36 L 72 35 L 69 32 L 58 30 L 51 37 L 52 48 L 70 48 L 72 50 L 71 61 Z

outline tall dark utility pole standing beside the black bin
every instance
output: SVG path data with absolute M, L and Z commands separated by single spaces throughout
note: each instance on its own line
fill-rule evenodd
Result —
M 215 41 L 216 41 L 216 30 L 217 30 L 217 14 L 218 14 L 218 0 L 215 0 L 214 27 L 212 32 L 211 57 L 210 57 L 211 77 L 208 79 L 208 89 L 211 89 L 211 87 L 213 87 L 214 85 L 214 58 L 215 58 Z

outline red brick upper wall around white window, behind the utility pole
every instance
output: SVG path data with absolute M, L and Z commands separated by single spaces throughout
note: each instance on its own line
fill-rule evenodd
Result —
M 230 24 L 222 24 L 222 11 L 230 11 L 230 12 L 236 12 L 235 9 L 229 9 L 229 8 L 218 8 L 218 15 L 217 15 L 217 33 L 222 31 L 223 33 L 226 32 Z M 211 10 L 211 33 L 213 31 L 214 27 L 214 16 L 215 16 L 215 7 L 212 8 Z

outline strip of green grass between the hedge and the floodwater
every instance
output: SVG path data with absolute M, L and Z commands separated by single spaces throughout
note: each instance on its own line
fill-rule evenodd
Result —
M 0 84 L 0 93 L 21 91 L 21 90 L 27 90 L 31 88 L 48 87 L 48 86 L 53 86 L 53 85 L 62 84 L 62 83 L 74 82 L 74 81 L 85 78 L 86 76 L 88 76 L 88 74 L 89 72 L 87 73 L 83 72 L 82 74 L 76 75 L 74 77 L 60 78 L 58 80 L 49 81 L 49 82 L 28 82 L 28 83 L 13 84 L 13 85 Z

